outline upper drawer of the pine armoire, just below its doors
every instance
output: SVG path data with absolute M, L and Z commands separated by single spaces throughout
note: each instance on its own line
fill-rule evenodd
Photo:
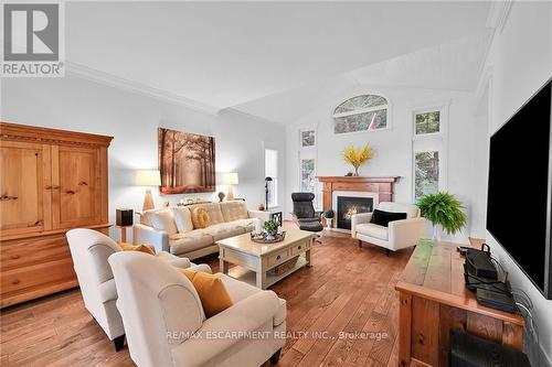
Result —
M 62 259 L 71 260 L 71 251 L 64 235 L 26 238 L 0 245 L 1 268 L 6 271 Z

